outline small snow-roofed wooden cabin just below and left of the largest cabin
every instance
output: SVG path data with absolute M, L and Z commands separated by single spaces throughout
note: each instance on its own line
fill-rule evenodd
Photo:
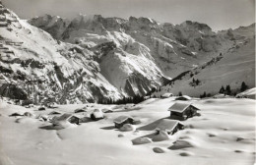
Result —
M 160 131 L 166 132 L 168 135 L 173 135 L 183 129 L 184 125 L 181 122 L 177 120 L 163 119 L 157 126 L 156 131 L 157 135 L 160 134 Z

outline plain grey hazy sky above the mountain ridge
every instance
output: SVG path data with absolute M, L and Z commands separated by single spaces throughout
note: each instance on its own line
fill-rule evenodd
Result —
M 255 22 L 255 0 L 2 0 L 23 19 L 43 14 L 73 18 L 79 13 L 103 17 L 148 17 L 163 23 L 205 23 L 213 29 Z

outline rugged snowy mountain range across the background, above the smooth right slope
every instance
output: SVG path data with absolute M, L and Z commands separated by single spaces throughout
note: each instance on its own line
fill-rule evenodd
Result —
M 240 62 L 246 46 L 253 47 L 252 29 L 254 25 L 215 32 L 190 21 L 172 25 L 100 15 L 79 15 L 71 21 L 45 15 L 25 21 L 1 4 L 0 92 L 59 103 L 144 95 L 184 71 L 199 70 L 221 53 L 226 61 Z M 246 57 L 254 59 L 251 53 Z M 241 75 L 252 80 L 254 71 Z M 14 88 L 22 94 L 15 94 Z

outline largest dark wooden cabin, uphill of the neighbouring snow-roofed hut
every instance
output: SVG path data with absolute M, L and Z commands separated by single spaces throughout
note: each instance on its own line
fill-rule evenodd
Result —
M 168 108 L 170 111 L 170 117 L 178 117 L 182 120 L 187 118 L 192 118 L 197 114 L 197 111 L 200 110 L 197 107 L 193 106 L 191 103 L 176 102 L 171 107 Z

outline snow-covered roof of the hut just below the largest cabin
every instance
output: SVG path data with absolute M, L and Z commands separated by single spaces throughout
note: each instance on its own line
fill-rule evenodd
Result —
M 169 120 L 169 119 L 163 119 L 160 124 L 157 126 L 156 130 L 159 131 L 172 131 L 178 124 L 183 125 L 181 122 L 177 120 Z

